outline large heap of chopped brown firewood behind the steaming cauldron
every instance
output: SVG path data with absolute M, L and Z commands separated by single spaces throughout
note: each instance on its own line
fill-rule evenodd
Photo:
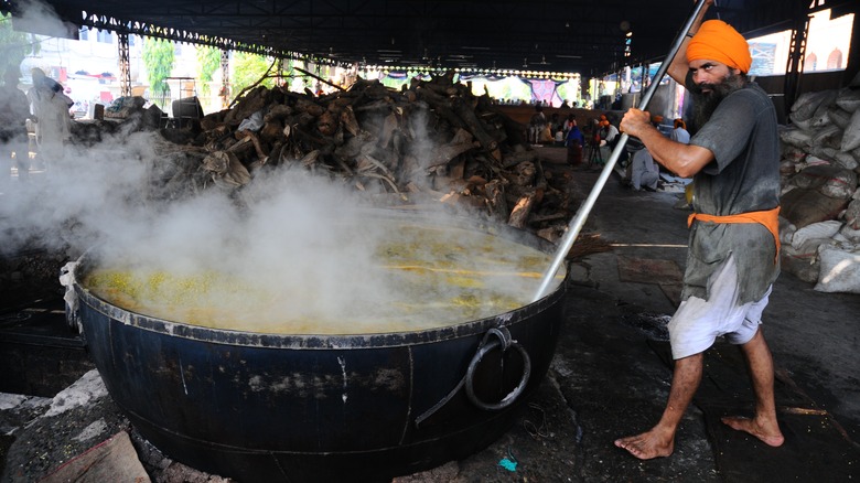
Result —
M 112 130 L 151 127 L 157 109 Z M 176 151 L 175 169 L 161 173 L 165 196 L 241 190 L 270 170 L 300 168 L 340 178 L 379 204 L 465 206 L 550 240 L 576 208 L 569 178 L 545 171 L 524 126 L 452 75 L 400 90 L 359 79 L 325 96 L 258 86 L 229 109 L 160 132 Z

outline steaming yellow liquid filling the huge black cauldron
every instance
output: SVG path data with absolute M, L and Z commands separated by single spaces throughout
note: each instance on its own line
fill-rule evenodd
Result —
M 262 281 L 211 268 L 178 273 L 114 265 L 90 270 L 83 286 L 114 305 L 168 321 L 245 332 L 353 335 L 422 331 L 518 309 L 531 302 L 551 262 L 548 254 L 473 229 L 390 229 L 357 277 L 303 273 L 303 283 L 279 283 L 277 278 Z M 555 287 L 562 279 L 563 273 L 557 275 Z

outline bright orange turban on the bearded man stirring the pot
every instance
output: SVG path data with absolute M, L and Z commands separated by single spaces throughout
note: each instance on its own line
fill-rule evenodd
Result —
M 743 73 L 752 65 L 746 39 L 722 20 L 701 24 L 687 46 L 687 61 L 717 61 Z

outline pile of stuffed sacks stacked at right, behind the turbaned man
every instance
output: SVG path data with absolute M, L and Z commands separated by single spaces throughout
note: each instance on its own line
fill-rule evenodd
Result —
M 823 292 L 860 293 L 860 75 L 798 97 L 781 127 L 784 271 Z

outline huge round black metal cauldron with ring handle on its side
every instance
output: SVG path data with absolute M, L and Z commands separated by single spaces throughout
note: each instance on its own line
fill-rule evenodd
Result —
M 86 270 L 85 256 L 76 279 Z M 496 316 L 367 335 L 175 323 L 78 281 L 68 315 L 116 404 L 171 458 L 240 482 L 389 481 L 465 458 L 513 426 L 555 353 L 563 286 Z

